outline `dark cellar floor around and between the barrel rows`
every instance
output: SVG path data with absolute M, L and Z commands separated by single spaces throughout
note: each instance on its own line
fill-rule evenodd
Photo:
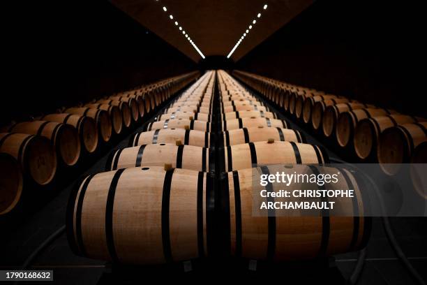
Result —
M 273 107 L 272 107 L 273 108 Z M 273 108 L 274 109 L 274 108 Z M 309 143 L 324 145 L 300 126 L 291 122 L 294 129 L 304 133 Z M 139 129 L 142 129 L 140 126 Z M 115 147 L 126 147 L 130 135 L 123 138 Z M 331 157 L 340 158 L 326 146 Z M 96 173 L 103 170 L 107 155 L 105 152 L 98 161 L 89 166 L 84 174 Z M 63 226 L 65 221 L 66 204 L 73 183 L 57 189 L 58 193 L 43 207 L 34 210 L 11 227 L 13 230 L 2 231 L 0 242 L 0 270 L 17 269 L 24 263 L 31 252 L 48 236 Z M 390 219 L 396 238 L 405 255 L 422 277 L 427 280 L 427 219 L 422 218 L 392 218 Z M 6 224 L 0 221 L 0 226 Z M 10 221 L 8 221 L 10 223 Z M 10 228 L 10 227 L 8 227 Z M 31 233 L 31 234 L 29 234 Z M 148 281 L 150 277 L 173 279 L 179 281 L 223 281 L 235 279 L 241 282 L 267 281 L 280 279 L 289 282 L 290 279 L 299 283 L 325 282 L 328 284 L 345 284 L 357 263 L 357 253 L 340 254 L 329 261 L 320 263 L 284 263 L 271 266 L 269 270 L 234 270 L 225 261 L 216 261 L 204 266 L 204 270 L 184 272 L 183 265 L 177 265 L 174 270 L 165 268 L 137 268 L 137 270 L 115 270 L 103 261 L 75 256 L 68 247 L 66 235 L 54 240 L 33 262 L 33 268 L 53 269 L 54 284 L 133 284 Z M 244 267 L 244 266 L 243 266 Z M 129 272 L 132 272 L 129 274 Z M 172 273 L 171 273 L 172 272 Z M 52 284 L 52 282 L 50 282 Z M 387 240 L 380 218 L 373 219 L 373 230 L 367 247 L 364 271 L 359 284 L 414 284 L 413 279 L 396 258 Z

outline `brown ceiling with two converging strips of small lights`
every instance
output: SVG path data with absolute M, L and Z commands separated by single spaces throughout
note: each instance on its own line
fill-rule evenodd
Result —
M 232 54 L 232 59 L 237 61 L 313 1 L 112 0 L 112 3 L 197 62 L 201 57 L 179 31 L 179 26 L 183 27 L 206 57 L 227 56 L 249 24 L 257 20 Z M 263 9 L 264 4 L 268 5 L 266 10 Z M 167 8 L 166 12 L 163 6 Z M 262 13 L 260 18 L 257 18 L 258 13 Z M 170 15 L 173 15 L 173 20 Z M 175 21 L 179 22 L 178 27 Z

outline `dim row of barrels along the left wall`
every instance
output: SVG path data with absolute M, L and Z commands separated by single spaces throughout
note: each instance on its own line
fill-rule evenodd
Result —
M 10 165 L 10 173 L 0 174 L 0 215 L 17 205 L 24 184 L 26 189 L 52 184 L 59 173 L 75 168 L 114 136 L 140 126 L 144 115 L 158 110 L 161 103 L 198 74 L 167 78 L 1 128 L 0 160 L 3 165 Z

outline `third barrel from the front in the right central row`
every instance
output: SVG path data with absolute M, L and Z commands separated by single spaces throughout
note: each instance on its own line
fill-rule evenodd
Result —
M 299 131 L 279 127 L 253 127 L 224 131 L 223 140 L 221 142 L 223 146 L 229 146 L 248 142 L 262 142 L 265 141 L 266 138 L 272 138 L 276 141 L 306 142 L 306 139 Z

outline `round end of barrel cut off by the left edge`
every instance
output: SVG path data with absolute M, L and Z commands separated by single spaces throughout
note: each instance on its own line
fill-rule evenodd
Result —
M 12 211 L 22 194 L 20 164 L 10 154 L 0 153 L 0 216 Z

